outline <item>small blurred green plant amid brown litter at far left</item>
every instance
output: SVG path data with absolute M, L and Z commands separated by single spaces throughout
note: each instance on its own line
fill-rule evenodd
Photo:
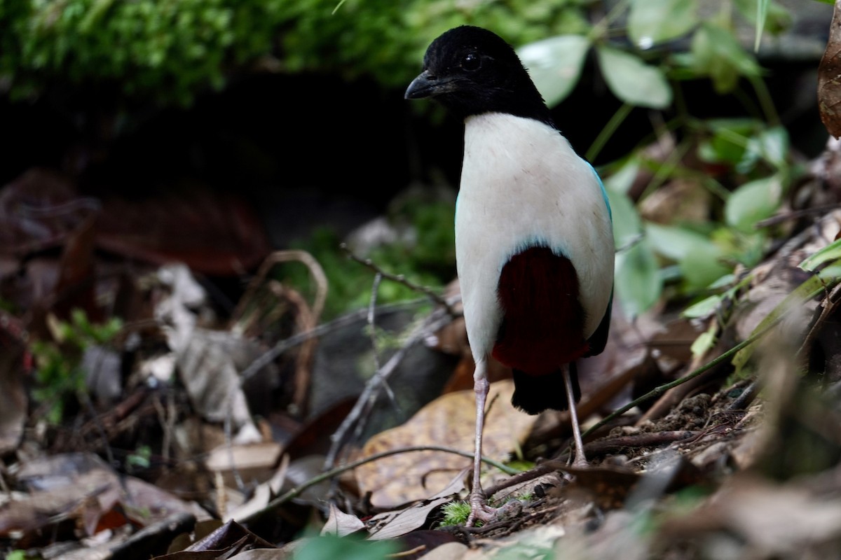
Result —
M 82 354 L 87 348 L 103 345 L 114 340 L 122 321 L 112 317 L 103 324 L 94 324 L 80 309 L 71 312 L 69 322 L 57 322 L 54 341 L 39 341 L 32 344 L 32 353 L 38 369 L 35 372 L 37 386 L 32 395 L 34 400 L 45 406 L 45 418 L 51 424 L 60 424 L 66 406 L 86 391 L 85 370 L 82 369 Z

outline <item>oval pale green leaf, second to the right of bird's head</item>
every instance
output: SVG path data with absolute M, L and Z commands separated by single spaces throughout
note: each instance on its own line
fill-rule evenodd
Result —
M 637 55 L 601 45 L 596 48 L 601 74 L 613 95 L 638 107 L 663 109 L 672 102 L 672 89 L 663 71 Z

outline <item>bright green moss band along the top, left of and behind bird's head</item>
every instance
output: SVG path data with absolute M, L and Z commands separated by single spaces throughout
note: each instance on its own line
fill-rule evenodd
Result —
M 189 104 L 249 71 L 333 72 L 403 86 L 431 39 L 459 24 L 515 44 L 588 29 L 584 0 L 2 0 L 0 87 L 50 86 Z

